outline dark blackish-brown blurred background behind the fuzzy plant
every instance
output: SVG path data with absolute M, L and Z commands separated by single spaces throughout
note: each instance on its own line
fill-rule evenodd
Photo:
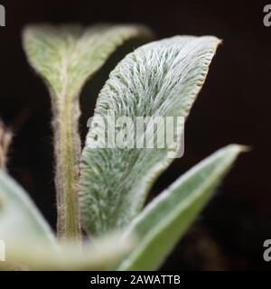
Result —
M 51 105 L 42 80 L 23 55 L 23 26 L 145 23 L 157 38 L 214 34 L 223 39 L 186 124 L 184 157 L 164 172 L 152 196 L 225 144 L 249 144 L 253 150 L 238 159 L 163 268 L 271 268 L 262 257 L 263 242 L 271 238 L 271 27 L 263 24 L 263 7 L 268 2 L 8 0 L 0 4 L 6 8 L 6 27 L 0 28 L 0 116 L 15 130 L 9 171 L 54 228 Z M 126 50 L 117 51 L 85 89 L 93 100 L 81 119 L 82 132 L 98 90 Z

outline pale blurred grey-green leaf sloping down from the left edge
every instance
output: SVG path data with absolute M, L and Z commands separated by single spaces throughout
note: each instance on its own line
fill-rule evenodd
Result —
M 5 172 L 0 172 L 0 239 L 28 239 L 56 246 L 45 219 L 23 188 Z

